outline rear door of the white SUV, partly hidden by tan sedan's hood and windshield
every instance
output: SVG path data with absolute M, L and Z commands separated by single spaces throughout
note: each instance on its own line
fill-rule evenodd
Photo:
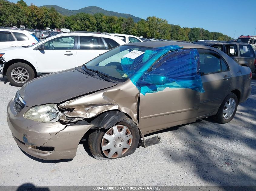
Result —
M 78 36 L 76 65 L 80 66 L 108 51 L 102 37 Z

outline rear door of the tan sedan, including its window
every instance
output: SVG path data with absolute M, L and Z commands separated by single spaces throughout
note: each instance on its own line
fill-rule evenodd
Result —
M 217 110 L 231 84 L 231 72 L 224 59 L 216 52 L 198 49 L 204 93 L 200 97 L 198 118 Z

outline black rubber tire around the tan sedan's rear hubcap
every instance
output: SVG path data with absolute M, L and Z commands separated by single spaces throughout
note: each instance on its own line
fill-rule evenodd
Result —
M 234 108 L 233 115 L 232 115 L 229 119 L 224 119 L 223 110 L 224 110 L 224 107 L 225 107 L 226 102 L 227 102 L 230 98 L 233 98 L 233 99 L 235 100 L 236 106 L 235 106 L 235 108 Z M 234 94 L 234 93 L 231 92 L 231 93 L 229 93 L 229 94 L 225 97 L 225 99 L 224 99 L 223 102 L 221 103 L 221 106 L 220 106 L 220 108 L 219 108 L 217 114 L 214 115 L 214 116 L 212 116 L 212 118 L 213 118 L 216 122 L 218 122 L 218 123 L 222 123 L 222 124 L 228 123 L 228 122 L 230 122 L 230 121 L 234 118 L 234 116 L 235 116 L 235 114 L 236 114 L 237 107 L 238 107 L 238 99 L 237 99 L 237 96 L 236 96 L 236 94 Z

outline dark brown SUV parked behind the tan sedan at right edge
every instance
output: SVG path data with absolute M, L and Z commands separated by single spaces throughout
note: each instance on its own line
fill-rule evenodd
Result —
M 239 65 L 248 66 L 253 73 L 256 73 L 256 69 L 254 68 L 256 64 L 255 53 L 252 46 L 248 43 L 214 40 L 204 40 L 194 43 L 217 48 L 230 56 Z

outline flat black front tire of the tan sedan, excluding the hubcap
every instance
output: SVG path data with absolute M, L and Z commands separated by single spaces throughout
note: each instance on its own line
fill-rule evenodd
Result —
M 118 123 L 118 125 L 127 126 L 132 134 L 132 142 L 131 142 L 130 148 L 124 154 L 117 157 L 117 158 L 121 158 L 121 157 L 125 157 L 125 156 L 128 156 L 128 155 L 134 153 L 134 151 L 136 150 L 136 148 L 139 144 L 140 137 L 139 137 L 138 127 L 136 126 L 134 121 L 131 120 L 130 118 L 126 118 L 126 119 L 122 120 L 120 123 Z M 91 151 L 91 154 L 97 160 L 110 160 L 111 159 L 111 158 L 107 158 L 101 149 L 101 141 L 102 141 L 102 138 L 103 138 L 105 132 L 107 132 L 107 131 L 108 131 L 108 129 L 96 130 L 89 135 L 88 146 Z

